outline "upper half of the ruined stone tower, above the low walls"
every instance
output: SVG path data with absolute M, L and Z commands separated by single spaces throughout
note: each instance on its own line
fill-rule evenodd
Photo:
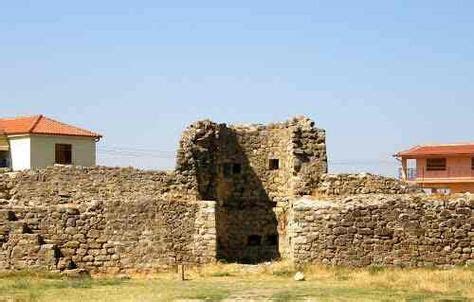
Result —
M 325 131 L 305 117 L 269 125 L 199 121 L 183 132 L 177 171 L 203 199 L 287 202 L 311 192 L 327 173 L 325 141 Z

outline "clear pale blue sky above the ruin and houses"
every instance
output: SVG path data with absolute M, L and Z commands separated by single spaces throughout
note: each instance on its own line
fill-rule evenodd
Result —
M 99 131 L 103 164 L 169 168 L 193 120 L 305 114 L 328 132 L 332 171 L 395 174 L 399 149 L 474 141 L 473 12 L 473 1 L 2 1 L 1 115 Z

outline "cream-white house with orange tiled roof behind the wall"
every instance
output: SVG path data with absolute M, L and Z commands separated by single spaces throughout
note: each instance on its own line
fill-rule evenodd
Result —
M 94 166 L 101 137 L 42 115 L 0 119 L 0 167 Z

